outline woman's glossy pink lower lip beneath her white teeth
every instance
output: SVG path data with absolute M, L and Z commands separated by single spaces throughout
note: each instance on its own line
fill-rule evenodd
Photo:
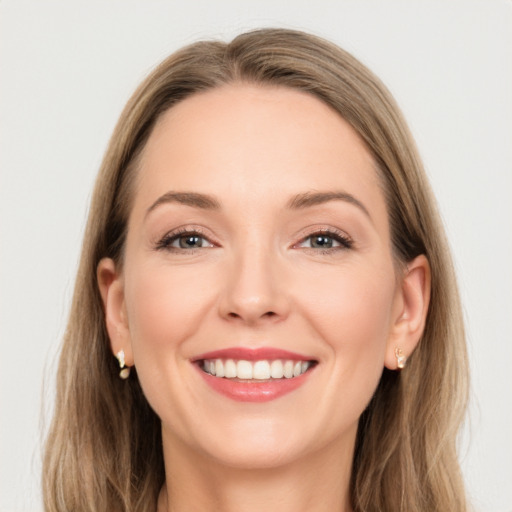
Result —
M 201 370 L 199 366 L 197 366 L 197 370 L 214 391 L 231 398 L 231 400 L 237 402 L 269 402 L 270 400 L 275 400 L 276 398 L 291 393 L 302 386 L 309 377 L 312 369 L 291 379 L 271 379 L 261 382 L 257 380 L 244 382 L 226 379 L 224 377 L 214 377 Z

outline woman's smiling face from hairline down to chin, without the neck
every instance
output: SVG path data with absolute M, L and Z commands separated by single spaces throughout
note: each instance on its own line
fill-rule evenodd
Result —
M 164 446 L 237 467 L 351 450 L 404 307 L 365 146 L 318 99 L 251 85 L 161 117 L 112 284 Z

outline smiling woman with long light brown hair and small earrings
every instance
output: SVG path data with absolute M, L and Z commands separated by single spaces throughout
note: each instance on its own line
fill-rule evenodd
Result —
M 47 510 L 463 511 L 453 269 L 384 86 L 260 30 L 165 60 L 91 205 Z

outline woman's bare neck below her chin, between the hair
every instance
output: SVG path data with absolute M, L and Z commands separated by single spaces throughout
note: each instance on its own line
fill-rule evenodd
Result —
M 332 446 L 285 466 L 233 468 L 183 446 L 165 446 L 158 512 L 350 512 L 349 450 Z M 338 447 L 341 448 L 341 447 Z

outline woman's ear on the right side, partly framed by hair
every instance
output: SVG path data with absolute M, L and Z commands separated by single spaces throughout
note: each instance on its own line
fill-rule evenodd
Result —
M 430 265 L 421 254 L 407 264 L 400 278 L 386 345 L 386 368 L 398 368 L 397 350 L 401 350 L 406 358 L 414 352 L 425 329 L 429 302 Z

